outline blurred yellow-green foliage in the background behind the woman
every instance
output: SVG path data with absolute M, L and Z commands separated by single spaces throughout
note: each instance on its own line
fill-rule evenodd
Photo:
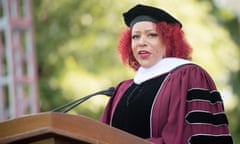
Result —
M 118 35 L 122 12 L 139 1 L 34 0 L 41 111 L 131 78 L 121 64 Z M 213 1 L 142 1 L 162 7 L 183 23 L 193 61 L 212 75 L 222 92 L 230 129 L 240 143 L 240 39 L 236 14 Z M 108 97 L 94 97 L 70 113 L 98 119 Z

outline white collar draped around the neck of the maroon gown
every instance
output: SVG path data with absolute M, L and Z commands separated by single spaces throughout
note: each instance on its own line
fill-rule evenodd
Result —
M 188 64 L 188 63 L 192 63 L 192 62 L 189 60 L 173 58 L 173 57 L 161 59 L 157 64 L 153 65 L 150 68 L 140 67 L 137 70 L 136 75 L 134 77 L 134 83 L 141 84 L 146 80 L 149 80 L 161 74 L 167 73 L 178 66 Z

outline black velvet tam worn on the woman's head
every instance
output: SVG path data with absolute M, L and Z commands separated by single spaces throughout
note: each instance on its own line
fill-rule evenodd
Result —
M 156 7 L 141 4 L 138 4 L 127 12 L 123 13 L 123 17 L 125 24 L 129 27 L 132 27 L 135 23 L 139 21 L 164 21 L 169 24 L 179 24 L 182 27 L 182 24 L 166 11 Z

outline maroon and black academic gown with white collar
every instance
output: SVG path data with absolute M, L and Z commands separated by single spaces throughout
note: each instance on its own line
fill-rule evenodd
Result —
M 135 95 L 130 94 L 134 92 L 134 87 L 146 83 L 149 83 L 147 88 L 153 87 L 150 94 L 147 91 L 143 94 L 143 98 L 147 98 L 145 94 L 151 95 L 150 100 L 144 100 L 151 103 L 150 106 L 145 105 L 149 111 L 143 110 L 141 105 L 131 111 L 133 115 L 146 112 L 140 116 L 136 114 L 134 119 L 140 124 L 145 123 L 142 125 L 144 128 L 140 128 L 142 133 L 138 133 L 134 132 L 137 125 L 131 127 L 125 124 L 126 115 L 121 114 L 121 109 L 126 111 L 128 107 L 124 103 L 134 99 Z M 138 92 L 141 93 L 141 90 Z M 148 117 L 148 122 L 143 120 L 144 116 Z M 200 66 L 179 58 L 165 58 L 150 69 L 140 67 L 134 79 L 121 82 L 110 98 L 101 121 L 156 144 L 233 143 L 223 101 L 214 81 Z

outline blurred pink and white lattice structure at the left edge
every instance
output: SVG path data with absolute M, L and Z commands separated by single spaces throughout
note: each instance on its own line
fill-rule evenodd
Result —
M 39 111 L 31 0 L 0 0 L 0 121 Z

